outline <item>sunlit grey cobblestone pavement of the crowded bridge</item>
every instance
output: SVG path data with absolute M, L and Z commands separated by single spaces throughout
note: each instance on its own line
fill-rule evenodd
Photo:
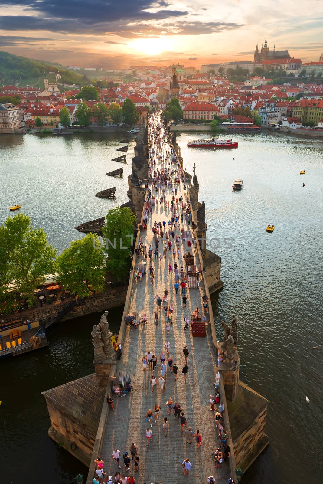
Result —
M 168 146 L 167 146 L 168 149 Z M 170 189 L 165 189 L 166 200 L 171 200 Z M 177 196 L 182 195 L 185 198 L 183 183 L 180 183 L 180 189 L 177 188 Z M 162 207 L 156 203 L 153 207 L 153 214 L 148 218 L 147 232 L 143 231 L 144 244 L 147 248 L 152 242 L 153 222 L 167 221 L 171 218 L 170 209 Z M 184 219 L 184 229 L 187 224 Z M 178 231 L 176 232 L 178 233 Z M 180 233 L 180 231 L 179 231 Z M 181 254 L 179 264 L 182 263 L 185 252 L 194 249 L 188 248 L 186 242 L 180 242 L 179 247 Z M 174 245 L 174 244 L 173 244 Z M 162 250 L 162 243 L 159 250 Z M 177 258 L 177 255 L 176 255 Z M 173 255 L 167 251 L 166 258 L 162 258 L 162 264 L 159 259 L 155 260 L 152 255 L 152 265 L 155 268 L 155 283 L 150 284 L 149 271 L 143 277 L 143 282 L 138 280 L 134 284 L 132 294 L 131 311 L 139 311 L 147 314 L 147 325 L 140 324 L 138 329 L 127 328 L 127 335 L 124 341 L 123 357 L 117 363 L 118 371 L 129 371 L 132 378 L 133 395 L 126 395 L 122 398 L 114 397 L 116 410 L 109 412 L 108 422 L 105 429 L 103 449 L 101 458 L 105 461 L 104 470 L 107 475 L 114 476 L 117 466 L 112 463 L 112 451 L 115 447 L 120 450 L 120 473 L 121 476 L 132 475 L 137 484 L 158 482 L 160 484 L 184 483 L 187 481 L 202 484 L 206 483 L 207 477 L 213 475 L 217 483 L 226 483 L 229 478 L 228 462 L 221 464 L 220 469 L 214 468 L 214 459 L 211 455 L 219 444 L 218 432 L 214 423 L 214 412 L 210 410 L 209 397 L 214 394 L 214 377 L 216 369 L 217 355 L 212 350 L 210 329 L 207 327 L 206 338 L 193 338 L 190 329 L 184 331 L 184 317 L 190 317 L 191 310 L 199 306 L 200 314 L 202 313 L 202 295 L 203 287 L 198 289 L 189 289 L 187 287 L 187 307 L 183 308 L 182 295 L 180 289 L 175 294 L 174 274 L 170 277 L 168 273 L 168 262 L 172 261 Z M 178 264 L 178 265 L 179 265 Z M 149 267 L 149 259 L 147 261 Z M 179 268 L 181 266 L 179 265 Z M 185 265 L 184 265 L 185 271 Z M 166 334 L 165 321 L 166 316 L 161 311 L 159 323 L 154 323 L 154 311 L 156 310 L 156 294 L 163 296 L 164 289 L 169 290 L 168 304 L 174 304 L 173 324 L 171 325 L 170 334 Z M 142 357 L 147 351 L 151 351 L 158 357 L 158 364 L 155 370 L 155 377 L 161 375 L 160 354 L 164 350 L 165 341 L 171 344 L 170 355 L 173 356 L 178 366 L 177 381 L 174 374 L 170 373 L 167 367 L 166 389 L 161 395 L 161 389 L 154 388 L 151 392 L 150 377 L 153 374 L 152 369 L 147 367 L 143 371 Z M 182 349 L 184 346 L 190 351 L 188 358 L 188 378 L 187 384 L 184 382 L 181 373 L 184 366 L 184 357 Z M 180 424 L 173 412 L 168 415 L 166 402 L 172 397 L 174 402 L 178 402 L 187 419 L 188 426 L 191 430 L 200 431 L 202 436 L 202 445 L 200 449 L 196 448 L 195 439 L 191 444 L 186 444 L 186 439 L 180 431 Z M 145 420 L 147 410 L 153 410 L 154 404 L 158 403 L 161 407 L 160 418 L 155 423 L 152 421 L 152 440 L 149 447 L 146 448 L 146 428 L 148 423 Z M 162 419 L 167 416 L 169 420 L 169 435 L 164 436 L 162 429 Z M 140 457 L 139 471 L 134 473 L 134 464 L 131 464 L 130 471 L 126 472 L 123 465 L 122 454 L 126 451 L 130 453 L 131 442 L 138 446 L 138 455 Z M 184 458 L 189 457 L 192 463 L 191 472 L 188 476 L 183 475 L 181 462 Z

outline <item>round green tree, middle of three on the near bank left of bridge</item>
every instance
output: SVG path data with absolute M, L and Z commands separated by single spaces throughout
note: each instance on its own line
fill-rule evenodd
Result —
M 83 239 L 71 242 L 56 259 L 59 281 L 72 294 L 85 298 L 91 290 L 105 288 L 105 256 L 97 235 L 89 233 Z M 88 288 L 91 286 L 91 290 Z

